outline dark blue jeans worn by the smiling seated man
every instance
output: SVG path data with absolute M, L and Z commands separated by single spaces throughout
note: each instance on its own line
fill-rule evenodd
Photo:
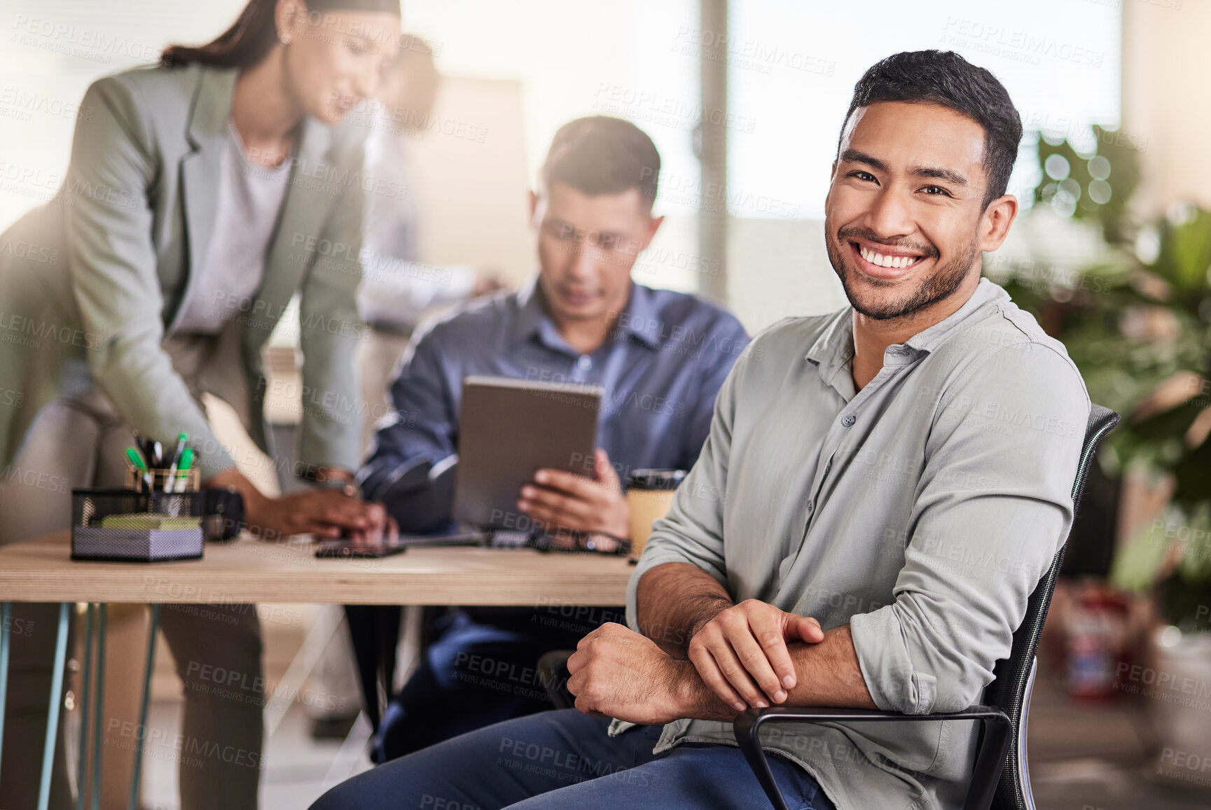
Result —
M 608 719 L 574 708 L 497 723 L 338 785 L 311 810 L 747 810 L 768 799 L 744 754 L 730 746 L 652 748 L 661 726 L 609 737 Z M 816 780 L 769 758 L 787 804 L 836 810 Z

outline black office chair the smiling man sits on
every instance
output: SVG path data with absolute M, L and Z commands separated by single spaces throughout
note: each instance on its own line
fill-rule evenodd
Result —
M 1119 421 L 1119 415 L 1109 408 L 1095 404 L 1090 409 L 1085 429 L 1085 442 L 1077 466 L 1077 479 L 1072 486 L 1073 511 L 1080 504 L 1089 466 L 1102 438 Z M 1067 544 L 1067 540 L 1066 540 Z M 736 716 L 733 731 L 740 751 L 744 752 L 757 781 L 775 810 L 788 810 L 770 772 L 765 752 L 758 742 L 761 728 L 767 723 L 861 723 L 868 720 L 982 720 L 983 737 L 977 747 L 971 774 L 971 787 L 964 810 L 1034 810 L 1031 780 L 1026 768 L 1026 716 L 1034 685 L 1034 653 L 1039 647 L 1039 634 L 1051 605 L 1056 576 L 1063 563 L 1064 547 L 1061 546 L 1051 561 L 1051 568 L 1039 580 L 1026 605 L 1026 616 L 1014 633 L 1014 643 L 1008 659 L 997 662 L 993 682 L 985 690 L 985 705 L 971 706 L 962 712 L 945 714 L 901 714 L 865 708 L 817 708 L 800 706 L 770 706 L 750 708 Z M 570 708 L 574 699 L 567 690 L 568 650 L 556 650 L 544 655 L 538 663 L 538 674 L 546 685 L 556 708 Z M 1009 765 L 1005 768 L 1005 765 Z

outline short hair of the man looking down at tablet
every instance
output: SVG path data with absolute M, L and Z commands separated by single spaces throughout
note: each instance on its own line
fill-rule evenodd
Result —
M 638 189 L 650 211 L 660 178 L 660 153 L 630 121 L 592 115 L 559 127 L 541 176 L 547 189 L 563 183 L 590 196 Z

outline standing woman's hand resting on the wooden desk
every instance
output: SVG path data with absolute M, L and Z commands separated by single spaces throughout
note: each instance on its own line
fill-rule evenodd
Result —
M 243 496 L 245 523 L 263 538 L 314 534 L 317 538 L 381 536 L 395 525 L 381 504 L 346 495 L 338 489 L 317 489 L 268 498 L 236 470 L 224 470 L 207 482 L 231 487 Z

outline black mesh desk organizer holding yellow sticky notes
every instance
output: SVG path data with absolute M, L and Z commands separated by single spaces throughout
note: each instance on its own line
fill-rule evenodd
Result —
M 121 562 L 202 556 L 205 498 L 193 492 L 71 490 L 71 558 Z

